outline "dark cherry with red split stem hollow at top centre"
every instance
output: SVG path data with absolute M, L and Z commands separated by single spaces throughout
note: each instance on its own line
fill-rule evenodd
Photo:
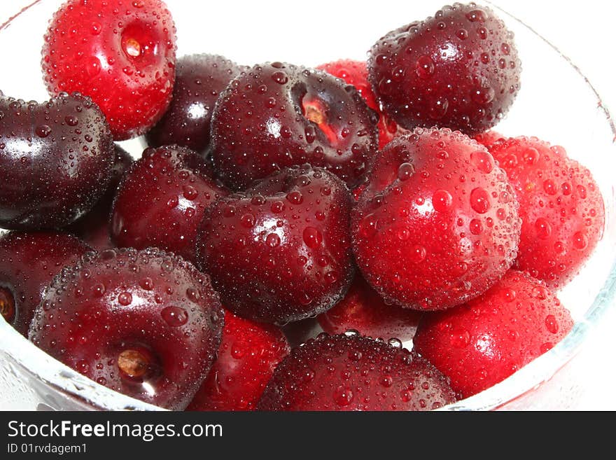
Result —
M 214 166 L 234 190 L 304 163 L 354 186 L 372 165 L 377 120 L 353 86 L 326 72 L 281 62 L 256 65 L 216 104 Z

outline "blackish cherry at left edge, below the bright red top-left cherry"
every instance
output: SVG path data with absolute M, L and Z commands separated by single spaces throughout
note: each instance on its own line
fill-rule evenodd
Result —
M 96 104 L 60 95 L 37 104 L 0 93 L 0 228 L 60 228 L 111 179 L 113 139 Z

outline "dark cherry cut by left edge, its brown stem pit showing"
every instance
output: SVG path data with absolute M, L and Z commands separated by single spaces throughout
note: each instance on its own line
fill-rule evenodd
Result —
M 71 235 L 10 232 L 0 237 L 0 310 L 21 335 L 28 335 L 34 310 L 53 277 L 92 251 Z

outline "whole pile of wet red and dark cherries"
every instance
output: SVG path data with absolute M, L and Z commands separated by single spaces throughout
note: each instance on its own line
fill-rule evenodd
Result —
M 0 312 L 99 384 L 172 410 L 430 410 L 573 326 L 554 292 L 603 199 L 562 147 L 490 131 L 521 64 L 489 8 L 311 69 L 176 60 L 162 1 L 69 0 L 42 55 L 52 99 L 0 93 Z M 135 161 L 114 144 L 142 134 Z

